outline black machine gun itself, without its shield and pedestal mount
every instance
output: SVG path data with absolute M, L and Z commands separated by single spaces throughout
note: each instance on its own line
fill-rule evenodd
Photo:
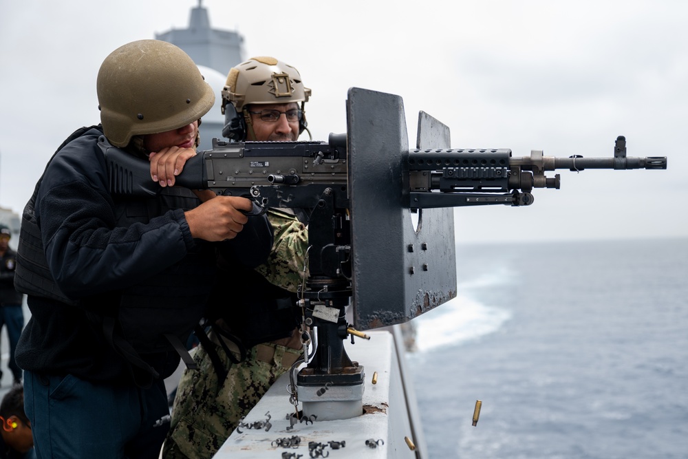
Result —
M 423 116 L 423 114 L 421 114 Z M 103 140 L 105 142 L 105 140 Z M 155 195 L 146 162 L 103 145 L 113 193 Z M 406 159 L 409 209 L 506 204 L 533 204 L 534 188 L 559 189 L 561 176 L 546 171 L 569 169 L 667 169 L 667 158 L 629 158 L 626 140 L 616 138 L 613 158 L 544 156 L 541 150 L 517 158 L 510 149 L 410 149 Z M 330 187 L 347 189 L 347 134 L 330 134 L 328 142 L 224 142 L 191 158 L 177 178 L 189 189 L 244 196 L 261 206 L 312 208 Z M 336 206 L 348 208 L 347 193 Z

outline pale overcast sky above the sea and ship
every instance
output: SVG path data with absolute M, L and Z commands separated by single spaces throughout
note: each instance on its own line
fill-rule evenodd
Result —
M 452 5 L 451 8 L 449 5 Z M 0 206 L 21 212 L 56 147 L 99 121 L 96 74 L 129 41 L 186 28 L 195 0 L 0 0 Z M 688 236 L 684 1 L 205 0 L 244 56 L 299 69 L 315 140 L 346 131 L 347 89 L 402 96 L 455 148 L 667 156 L 666 171 L 561 171 L 529 207 L 455 211 L 464 242 Z

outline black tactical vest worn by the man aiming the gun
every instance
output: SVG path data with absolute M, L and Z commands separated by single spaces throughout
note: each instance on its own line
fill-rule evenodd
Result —
M 94 128 L 100 131 L 100 127 L 78 129 L 56 153 Z M 96 297 L 70 299 L 61 292 L 50 273 L 36 222 L 34 209 L 42 178 L 22 214 L 15 273 L 17 290 L 83 309 L 90 321 L 102 328 L 110 345 L 129 362 L 134 380 L 142 387 L 148 387 L 160 376 L 147 356 L 175 350 L 187 367 L 195 369 L 185 344 L 204 315 L 208 292 L 215 281 L 215 247 L 197 244 L 182 261 L 140 285 Z M 189 190 L 166 187 L 152 198 L 114 197 L 114 202 L 116 225 L 129 226 L 135 222 L 147 223 L 171 209 L 193 209 L 197 198 Z

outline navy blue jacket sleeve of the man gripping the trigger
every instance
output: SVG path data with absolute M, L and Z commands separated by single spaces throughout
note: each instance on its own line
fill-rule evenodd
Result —
M 74 140 L 53 158 L 36 204 L 50 271 L 74 298 L 136 284 L 180 261 L 195 244 L 180 209 L 146 224 L 116 226 L 99 134 Z

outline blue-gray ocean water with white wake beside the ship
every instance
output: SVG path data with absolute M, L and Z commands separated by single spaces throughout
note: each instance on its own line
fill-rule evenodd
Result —
M 460 245 L 457 265 L 407 354 L 430 458 L 688 458 L 688 239 Z

